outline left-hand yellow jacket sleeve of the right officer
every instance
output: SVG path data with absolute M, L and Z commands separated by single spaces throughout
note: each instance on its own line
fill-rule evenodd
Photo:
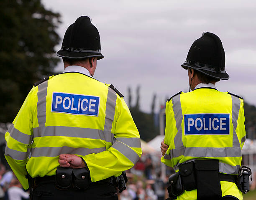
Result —
M 161 162 L 169 167 L 174 167 L 174 162 L 170 157 L 170 151 L 175 149 L 174 145 L 174 137 L 177 134 L 178 130 L 176 128 L 176 122 L 174 118 L 174 111 L 172 109 L 172 101 L 166 102 L 166 109 L 165 109 L 165 118 L 166 118 L 166 125 L 165 125 L 165 133 L 164 133 L 164 143 L 167 144 L 169 147 L 166 151 L 166 154 L 161 157 Z

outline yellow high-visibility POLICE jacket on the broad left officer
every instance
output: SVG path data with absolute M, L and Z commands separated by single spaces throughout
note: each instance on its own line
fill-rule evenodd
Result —
M 60 154 L 82 157 L 92 182 L 133 167 L 140 135 L 115 91 L 76 72 L 33 86 L 5 134 L 5 157 L 25 189 L 26 170 L 31 177 L 55 175 Z

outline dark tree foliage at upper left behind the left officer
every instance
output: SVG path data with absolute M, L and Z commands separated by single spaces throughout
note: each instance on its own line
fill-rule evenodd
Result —
M 12 122 L 33 83 L 54 73 L 59 23 L 41 0 L 0 1 L 0 122 Z

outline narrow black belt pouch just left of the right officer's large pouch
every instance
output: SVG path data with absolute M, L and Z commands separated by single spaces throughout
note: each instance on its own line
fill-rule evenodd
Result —
M 179 174 L 182 176 L 184 190 L 191 191 L 197 189 L 195 163 L 193 161 L 180 165 Z

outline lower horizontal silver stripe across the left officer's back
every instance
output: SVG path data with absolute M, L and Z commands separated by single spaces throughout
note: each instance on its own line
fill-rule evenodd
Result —
M 36 147 L 32 148 L 31 157 L 56 157 L 60 154 L 78 154 L 78 155 L 88 155 L 92 153 L 100 153 L 106 150 L 106 147 L 100 147 L 95 149 L 88 149 L 83 147 Z

